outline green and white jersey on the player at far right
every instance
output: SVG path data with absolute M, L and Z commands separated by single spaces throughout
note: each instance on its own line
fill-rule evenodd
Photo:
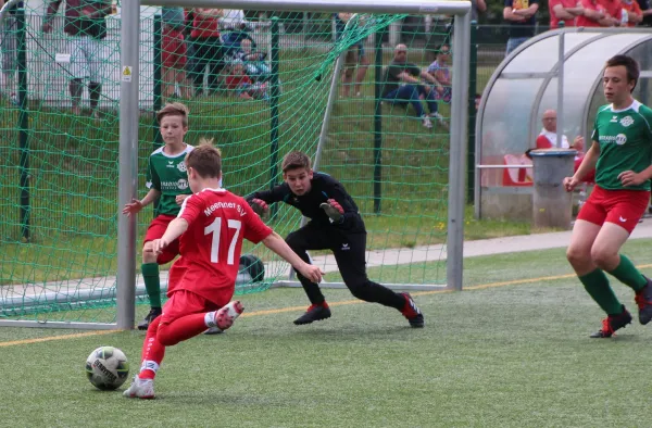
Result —
M 652 110 L 638 101 L 623 110 L 598 109 L 591 140 L 600 144 L 595 184 L 607 190 L 650 190 L 650 181 L 624 187 L 618 174 L 640 173 L 652 164 Z

